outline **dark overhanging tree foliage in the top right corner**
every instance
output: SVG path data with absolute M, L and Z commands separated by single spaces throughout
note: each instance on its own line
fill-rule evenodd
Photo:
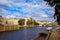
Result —
M 44 0 L 51 7 L 55 6 L 54 18 L 57 18 L 58 25 L 60 25 L 60 0 Z

